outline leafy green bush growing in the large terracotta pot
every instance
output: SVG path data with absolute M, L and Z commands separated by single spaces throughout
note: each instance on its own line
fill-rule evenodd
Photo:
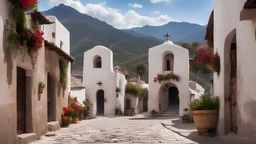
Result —
M 219 108 L 219 98 L 211 98 L 208 95 L 203 95 L 199 99 L 194 100 L 190 103 L 190 109 L 195 110 L 218 110 Z

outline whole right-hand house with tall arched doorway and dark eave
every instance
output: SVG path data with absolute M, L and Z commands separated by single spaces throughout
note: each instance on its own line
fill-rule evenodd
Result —
M 256 1 L 215 0 L 206 40 L 220 56 L 218 134 L 256 139 Z

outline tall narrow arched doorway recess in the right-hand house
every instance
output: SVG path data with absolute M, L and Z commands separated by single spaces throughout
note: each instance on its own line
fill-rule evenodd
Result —
M 237 44 L 236 30 L 227 36 L 224 49 L 225 133 L 237 132 Z

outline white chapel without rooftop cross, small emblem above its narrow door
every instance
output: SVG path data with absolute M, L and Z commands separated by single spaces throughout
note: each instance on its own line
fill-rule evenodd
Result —
M 92 104 L 91 117 L 115 115 L 116 108 L 124 110 L 125 76 L 113 71 L 113 53 L 96 46 L 84 53 L 83 85 Z M 116 92 L 117 87 L 120 93 Z

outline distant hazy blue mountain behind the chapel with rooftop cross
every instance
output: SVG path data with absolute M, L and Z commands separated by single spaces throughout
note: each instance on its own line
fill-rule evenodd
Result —
M 170 35 L 171 41 L 200 42 L 204 43 L 206 26 L 187 22 L 169 22 L 162 26 L 144 26 L 129 29 L 142 35 L 152 36 L 164 40 L 164 34 Z M 128 30 L 126 30 L 128 31 Z

